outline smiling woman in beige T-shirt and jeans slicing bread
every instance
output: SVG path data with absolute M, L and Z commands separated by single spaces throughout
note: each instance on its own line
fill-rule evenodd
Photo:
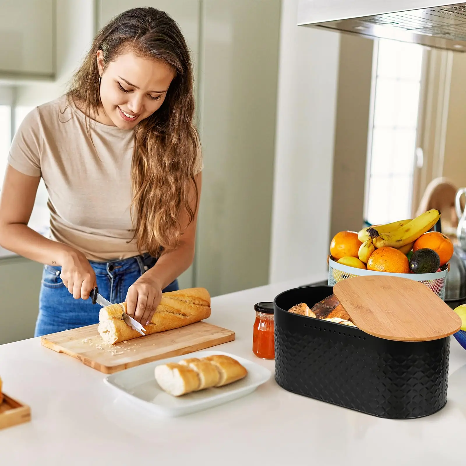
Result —
M 154 8 L 97 34 L 69 92 L 14 137 L 0 198 L 1 246 L 44 264 L 35 336 L 98 322 L 99 288 L 143 325 L 192 263 L 202 161 L 192 66 Z M 43 178 L 50 239 L 27 226 Z M 74 299 L 73 299 L 74 298 Z

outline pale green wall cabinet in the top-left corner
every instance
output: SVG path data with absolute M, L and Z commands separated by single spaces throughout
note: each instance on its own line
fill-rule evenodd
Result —
M 0 75 L 53 78 L 55 0 L 2 0 Z

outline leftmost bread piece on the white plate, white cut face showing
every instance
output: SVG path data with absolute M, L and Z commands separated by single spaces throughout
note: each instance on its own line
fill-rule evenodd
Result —
M 186 365 L 168 363 L 155 368 L 155 379 L 163 391 L 174 397 L 199 389 L 199 376 Z

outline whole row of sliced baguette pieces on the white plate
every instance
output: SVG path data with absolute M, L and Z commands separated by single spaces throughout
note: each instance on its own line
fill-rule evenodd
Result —
M 247 370 L 230 356 L 214 355 L 160 364 L 155 379 L 168 394 L 179 397 L 192 391 L 232 384 L 246 377 Z M 196 376 L 194 380 L 193 375 Z

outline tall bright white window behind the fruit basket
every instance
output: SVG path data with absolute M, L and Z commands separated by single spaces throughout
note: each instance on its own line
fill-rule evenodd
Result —
M 366 219 L 384 224 L 411 218 L 423 49 L 375 43 Z

